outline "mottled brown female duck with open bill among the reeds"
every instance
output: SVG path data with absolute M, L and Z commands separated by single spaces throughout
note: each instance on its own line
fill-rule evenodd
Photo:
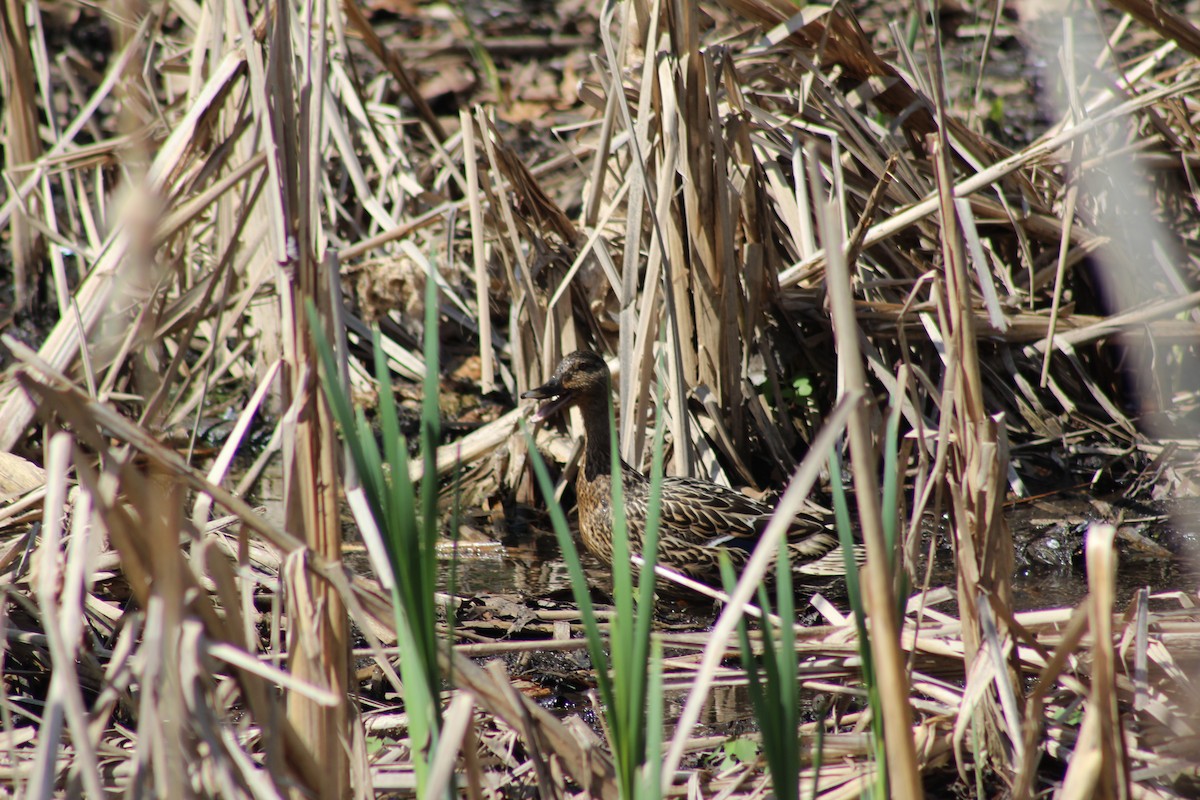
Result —
M 583 416 L 584 456 L 576 479 L 580 534 L 584 547 L 612 564 L 612 440 L 608 423 L 611 377 L 608 365 L 594 353 L 577 350 L 563 359 L 553 377 L 522 395 L 545 399 L 535 421 L 577 405 Z M 650 480 L 620 462 L 625 519 L 630 547 L 642 549 L 642 534 L 650 503 Z M 773 509 L 740 492 L 691 477 L 664 477 L 659 564 L 704 583 L 720 583 L 718 557 L 728 553 L 738 570 L 749 560 Z M 793 570 L 810 573 L 838 572 L 839 561 L 822 559 L 838 539 L 820 523 L 797 519 L 788 537 Z

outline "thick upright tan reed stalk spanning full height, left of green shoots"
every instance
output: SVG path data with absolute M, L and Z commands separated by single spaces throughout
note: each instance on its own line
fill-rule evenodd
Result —
M 292 279 L 281 282 L 280 329 L 283 338 L 283 512 L 288 530 L 302 530 L 308 547 L 332 564 L 341 561 L 337 447 L 329 405 L 318 387 L 318 356 L 305 303 L 328 309 L 329 278 L 317 247 L 323 241 L 322 112 L 326 82 L 326 4 L 312 6 L 296 20 L 282 4 L 268 19 L 271 43 L 265 74 L 270 96 L 257 95 L 263 136 L 274 154 L 268 196 L 275 233 L 275 254 Z M 294 42 L 293 36 L 300 41 Z M 295 47 L 294 47 L 295 44 Z M 302 60 L 301 60 L 302 58 Z M 305 68 L 298 68 L 301 66 Z M 278 102 L 284 98 L 284 102 Z M 328 315 L 326 315 L 328 318 Z M 342 599 L 323 578 L 304 570 L 284 571 L 288 600 L 288 666 L 296 679 L 340 696 L 349 688 L 349 622 Z M 301 758 L 320 764 L 318 783 L 305 787 L 323 800 L 349 790 L 347 748 L 349 708 L 322 705 L 301 692 L 288 694 L 288 718 L 304 742 Z

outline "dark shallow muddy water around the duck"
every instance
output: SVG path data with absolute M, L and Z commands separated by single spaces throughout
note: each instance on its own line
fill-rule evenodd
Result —
M 1195 531 L 1200 530 L 1194 524 L 1200 519 L 1200 504 L 1177 503 L 1171 511 L 1170 516 L 1160 510 L 1146 509 L 1112 513 L 1111 509 L 1098 507 L 1093 499 L 1084 495 L 1058 495 L 1013 506 L 1008 521 L 1015 549 L 1014 610 L 1072 607 L 1086 597 L 1084 537 L 1088 524 L 1098 519 L 1121 519 L 1118 609 L 1123 609 L 1145 587 L 1151 593 L 1194 590 L 1198 578 L 1195 564 L 1183 553 L 1193 552 Z M 944 529 L 931 528 L 929 537 L 934 543 L 935 569 L 930 585 L 947 587 L 953 591 L 955 571 L 949 534 Z M 929 545 L 930 539 L 926 539 L 924 552 L 929 552 Z M 490 549 L 462 543 L 457 560 L 446 558 L 442 564 L 442 577 L 446 583 L 451 565 L 456 564 L 455 594 L 461 597 L 510 595 L 518 604 L 545 603 L 553 599 L 563 608 L 574 608 L 557 542 L 548 530 L 538 524 L 528 525 L 521 536 L 510 536 Z M 587 555 L 584 567 L 594 596 L 602 597 L 611 570 Z M 828 599 L 846 609 L 845 597 L 834 593 Z M 940 609 L 956 613 L 953 601 L 943 603 Z M 661 631 L 703 632 L 710 628 L 718 610 L 712 603 L 660 600 L 656 627 Z M 798 608 L 800 613 L 804 610 Z M 806 610 L 811 613 L 811 608 Z M 678 655 L 694 654 L 695 650 Z M 528 681 L 530 691 L 540 694 L 539 699 L 546 708 L 563 715 L 580 714 L 589 724 L 596 726 L 594 699 L 589 693 L 593 688 L 589 668 L 583 650 L 527 652 L 509 660 L 510 674 Z M 808 704 L 805 717 L 814 718 L 811 704 L 816 699 L 812 692 L 806 691 L 802 697 Z M 670 733 L 683 709 L 686 690 L 672 690 L 668 685 L 665 699 Z M 694 735 L 731 736 L 754 728 L 748 691 L 737 681 L 713 688 Z

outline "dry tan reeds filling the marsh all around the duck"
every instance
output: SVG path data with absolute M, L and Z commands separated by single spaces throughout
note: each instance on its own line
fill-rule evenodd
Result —
M 1097 527 L 1088 600 L 1016 613 L 1001 507 L 1051 451 L 1103 449 L 1123 459 L 1105 468 L 1117 477 L 1145 468 L 1135 486 L 1194 480 L 1194 433 L 1139 427 L 1136 413 L 1171 422 L 1170 397 L 1193 402 L 1200 78 L 1187 54 L 1200 37 L 1122 5 L 1140 22 L 1121 22 L 1098 59 L 1118 56 L 1120 80 L 1076 74 L 1068 36 L 1067 110 L 1015 151 L 972 126 L 936 28 L 920 28 L 916 53 L 893 28 L 884 58 L 844 10 L 606 5 L 580 89 L 593 114 L 534 158 L 493 107 L 439 116 L 406 50 L 354 4 L 130 4 L 88 22 L 112 31 L 102 54 L 49 47 L 64 22 L 47 14 L 72 4 L 25 18 L 6 6 L 0 225 L 14 308 L 53 296 L 56 312 L 44 337 L 28 335 L 36 348 L 6 338 L 14 368 L 0 386 L 0 450 L 46 467 L 0 510 L 6 780 L 31 796 L 412 789 L 404 721 L 400 744 L 368 752 L 364 709 L 378 700 L 352 702 L 347 620 L 364 637 L 355 655 L 402 694 L 395 632 L 385 595 L 338 564 L 336 449 L 298 312 L 340 301 L 346 265 L 437 281 L 485 392 L 516 397 L 578 347 L 616 355 L 635 463 L 653 423 L 673 471 L 761 486 L 845 425 L 898 790 L 953 764 L 968 787 L 995 777 L 1032 796 L 1049 758 L 1069 765 L 1063 796 L 1186 792 L 1200 768 L 1195 597 L 1147 590 L 1118 614 L 1112 533 Z M 988 41 L 1007 24 L 990 20 Z M 1166 239 L 1109 227 L 1130 194 L 1118 156 L 1151 170 L 1136 193 Z M 1085 180 L 1097 175 L 1108 185 Z M 1104 276 L 1123 278 L 1102 289 Z M 1105 306 L 1122 285 L 1129 300 Z M 420 294 L 401 291 L 384 297 Z M 355 348 L 368 341 L 359 315 L 346 319 Z M 419 317 L 385 339 L 400 380 L 425 372 L 413 337 L 437 335 L 404 329 Z M 1153 372 L 1136 357 L 1147 351 Z M 386 389 L 349 367 L 364 393 Z M 652 420 L 654 380 L 667 402 Z M 798 380 L 810 401 L 788 395 Z M 898 511 L 874 497 L 886 402 L 905 425 L 899 569 L 914 584 L 882 547 Z M 235 426 L 204 452 L 200 431 L 222 414 Z M 822 434 L 826 414 L 839 425 Z M 445 445 L 439 474 L 500 453 L 496 479 L 530 498 L 518 415 Z M 234 479 L 256 416 L 274 437 Z M 241 499 L 278 452 L 281 523 Z M 949 590 L 911 575 L 920 521 L 943 510 L 958 616 L 937 608 Z M 906 585 L 919 589 L 896 596 Z M 850 796 L 882 765 L 856 699 L 857 628 L 817 602 L 827 625 L 798 632 L 799 678 L 835 699 L 802 727 L 800 792 Z M 449 657 L 434 787 L 457 775 L 472 796 L 612 790 L 586 726 L 530 703 L 500 662 L 468 658 L 582 646 L 569 614 L 545 626 L 548 643 Z M 685 758 L 718 747 L 690 723 L 710 687 L 743 680 L 721 666 L 736 643 L 660 638 L 679 654 L 666 688 L 689 698 L 664 782 L 760 792 L 756 763 L 713 775 Z

